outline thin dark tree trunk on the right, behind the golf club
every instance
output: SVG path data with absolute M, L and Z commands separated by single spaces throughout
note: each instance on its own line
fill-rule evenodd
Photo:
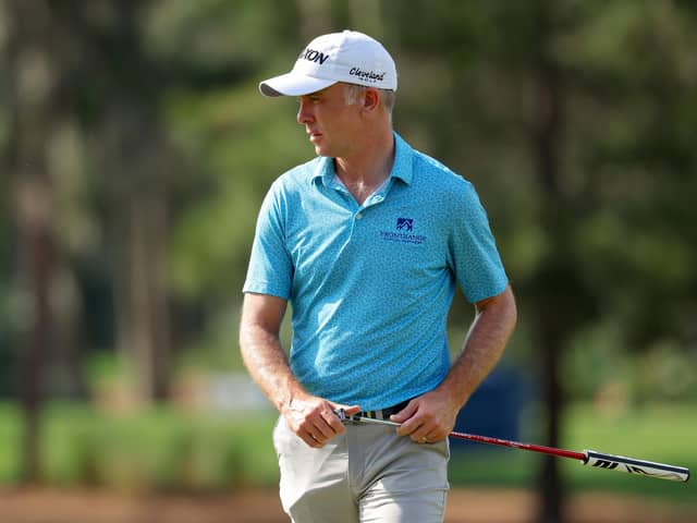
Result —
M 565 210 L 559 182 L 559 143 L 562 119 L 560 73 L 549 58 L 551 40 L 550 5 L 540 4 L 538 13 L 537 77 L 535 78 L 534 150 L 542 194 L 542 223 L 549 240 L 549 252 L 540 264 L 535 281 L 535 311 L 541 355 L 541 394 L 545 405 L 545 439 L 550 447 L 560 446 L 563 391 L 560 384 L 560 353 L 565 339 L 568 318 L 564 289 L 572 276 L 565 270 Z M 563 478 L 559 460 L 545 457 L 539 473 L 540 523 L 562 523 L 564 518 Z

